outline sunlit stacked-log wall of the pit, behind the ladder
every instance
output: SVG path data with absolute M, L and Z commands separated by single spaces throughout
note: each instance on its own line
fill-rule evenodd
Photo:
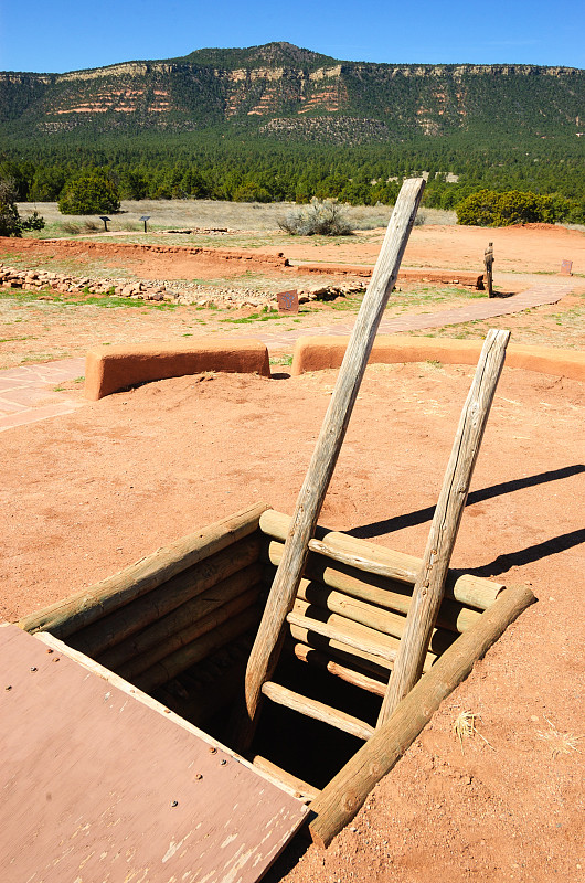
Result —
M 269 585 L 289 517 L 267 510 L 262 560 Z M 287 616 L 287 651 L 375 695 L 384 695 L 398 652 L 421 560 L 318 526 L 297 598 Z M 317 552 L 319 550 L 319 552 Z M 352 562 L 350 564 L 349 562 Z M 423 671 L 472 628 L 502 592 L 488 579 L 450 571 Z M 468 606 L 470 605 L 470 606 Z

